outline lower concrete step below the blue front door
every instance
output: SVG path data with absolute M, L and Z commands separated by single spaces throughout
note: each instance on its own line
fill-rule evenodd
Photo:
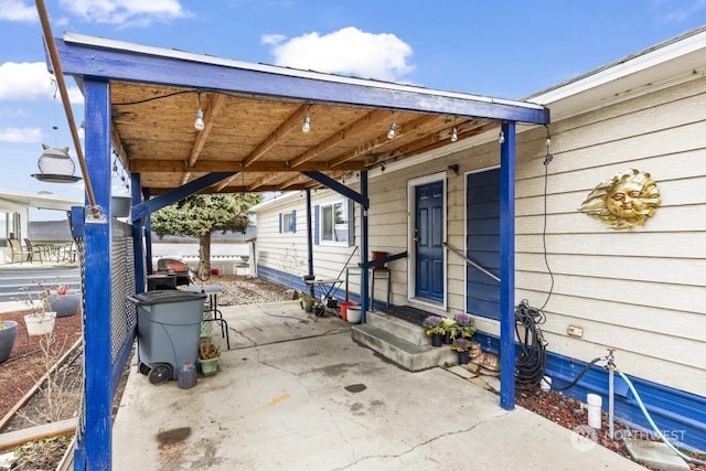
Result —
M 389 327 L 389 324 L 387 325 Z M 430 342 L 427 342 L 426 345 L 416 345 L 370 323 L 353 325 L 351 334 L 353 340 L 361 345 L 374 350 L 410 372 L 419 372 L 458 361 L 458 355 L 448 345 L 434 347 Z

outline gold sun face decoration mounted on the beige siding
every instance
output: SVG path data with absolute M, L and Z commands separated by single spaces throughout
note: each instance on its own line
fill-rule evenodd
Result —
M 628 169 L 597 184 L 579 211 L 622 231 L 643 226 L 660 204 L 660 190 L 650 173 Z

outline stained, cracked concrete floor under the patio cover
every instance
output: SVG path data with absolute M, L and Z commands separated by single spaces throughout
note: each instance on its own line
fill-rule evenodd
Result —
M 180 389 L 130 366 L 116 470 L 643 470 L 443 368 L 409 373 L 297 301 L 228 307 L 220 372 Z M 214 339 L 221 339 L 214 325 Z

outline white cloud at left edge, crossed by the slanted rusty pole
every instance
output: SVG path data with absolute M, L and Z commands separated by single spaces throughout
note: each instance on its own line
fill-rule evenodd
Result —
M 53 75 L 43 62 L 6 62 L 0 64 L 0 101 L 34 101 L 38 99 L 58 99 Z M 67 84 L 67 86 L 69 86 Z M 69 86 L 68 97 L 72 104 L 84 103 L 81 90 Z

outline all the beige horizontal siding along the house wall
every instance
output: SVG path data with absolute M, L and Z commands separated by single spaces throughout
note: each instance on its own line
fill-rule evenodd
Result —
M 518 127 L 517 131 L 515 301 L 527 299 L 541 308 L 550 287 L 543 239 L 545 129 Z M 550 132 L 546 258 L 554 288 L 542 327 L 548 349 L 589 361 L 614 347 L 624 372 L 706 395 L 706 79 L 563 119 L 550 126 Z M 456 163 L 458 174 L 448 170 Z M 408 249 L 407 184 L 438 172 L 446 172 L 447 179 L 447 242 L 464 250 L 466 174 L 498 165 L 493 137 L 403 170 L 372 174 L 371 250 Z M 644 227 L 613 231 L 578 211 L 593 185 L 627 168 L 650 172 L 661 192 L 662 205 Z M 320 191 L 313 204 L 331 197 L 336 196 Z M 297 199 L 286 211 L 292 207 L 298 215 L 296 237 L 278 234 L 277 214 L 285 207 L 271 207 L 258 215 L 258 247 L 268 256 L 296 251 L 303 274 L 304 200 Z M 355 224 L 360 245 L 357 205 Z M 315 246 L 314 271 L 320 277 L 336 276 L 351 250 Z M 353 261 L 359 260 L 360 253 Z M 277 267 L 272 259 L 267 263 Z M 447 255 L 446 310 L 408 299 L 409 263 L 389 265 L 394 304 L 446 314 L 466 310 L 461 258 Z M 359 279 L 352 281 L 351 289 L 357 292 Z M 479 318 L 477 323 L 485 332 L 499 333 L 495 321 Z M 584 336 L 568 336 L 569 325 L 582 328 Z

